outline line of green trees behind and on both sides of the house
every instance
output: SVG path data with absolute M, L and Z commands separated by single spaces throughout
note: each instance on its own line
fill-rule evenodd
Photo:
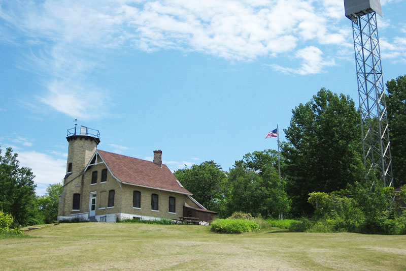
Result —
M 387 90 L 394 186 L 400 187 L 406 174 L 406 75 L 388 81 Z M 228 171 L 205 161 L 174 174 L 198 202 L 220 217 L 234 212 L 272 218 L 312 216 L 311 193 L 348 191 L 365 183 L 360 116 L 349 96 L 320 89 L 308 103 L 292 110 L 284 132 L 281 178 L 272 149 L 248 153 Z M 19 166 L 11 148 L 4 156 L 0 149 L 0 210 L 12 215 L 16 225 L 56 220 L 62 185 L 49 185 L 46 195 L 39 197 L 33 178 L 31 169 Z

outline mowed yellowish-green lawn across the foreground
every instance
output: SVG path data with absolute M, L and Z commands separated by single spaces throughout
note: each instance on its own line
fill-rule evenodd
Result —
M 219 234 L 210 226 L 46 225 L 35 238 L 0 239 L 0 269 L 405 270 L 406 236 Z

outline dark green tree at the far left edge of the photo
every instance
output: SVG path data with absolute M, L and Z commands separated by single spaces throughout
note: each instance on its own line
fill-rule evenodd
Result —
M 35 224 L 35 175 L 30 168 L 19 166 L 18 155 L 11 148 L 1 154 L 0 149 L 0 210 L 11 214 L 17 225 Z

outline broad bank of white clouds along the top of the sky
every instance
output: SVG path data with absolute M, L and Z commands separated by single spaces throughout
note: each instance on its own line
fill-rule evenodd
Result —
M 337 34 L 336 18 L 343 4 L 304 0 L 278 1 L 46 1 L 10 4 L 0 16 L 26 33 L 30 40 L 51 41 L 54 67 L 70 64 L 75 46 L 142 50 L 181 48 L 220 57 L 250 60 L 286 52 L 297 39 L 324 40 Z M 314 6 L 313 6 L 314 5 Z M 5 5 L 6 6 L 6 5 Z M 341 11 L 343 13 L 343 11 Z M 77 47 L 76 47 L 77 49 Z M 69 57 L 66 57 L 69 55 Z

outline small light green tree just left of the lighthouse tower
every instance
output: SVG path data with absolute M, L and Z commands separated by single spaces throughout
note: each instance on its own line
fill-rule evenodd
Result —
M 45 224 L 53 223 L 58 216 L 59 195 L 63 191 L 61 183 L 51 184 L 47 187 L 47 193 L 37 200 L 39 215 Z

